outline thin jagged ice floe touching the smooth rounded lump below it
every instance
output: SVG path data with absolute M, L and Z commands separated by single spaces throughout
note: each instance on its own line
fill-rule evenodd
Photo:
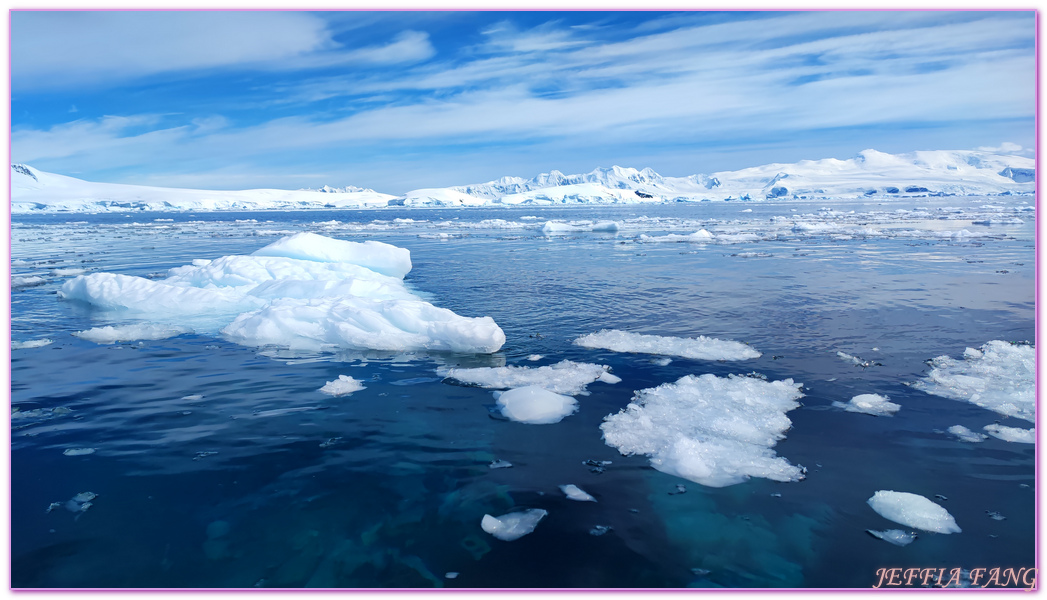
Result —
M 585 386 L 594 381 L 618 383 L 621 378 L 611 375 L 610 368 L 588 362 L 561 360 L 545 366 L 477 366 L 459 369 L 441 366 L 437 374 L 462 383 L 480 385 L 488 390 L 540 385 L 556 394 L 587 395 Z

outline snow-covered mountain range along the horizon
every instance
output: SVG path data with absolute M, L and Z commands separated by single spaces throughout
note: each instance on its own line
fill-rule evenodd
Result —
M 12 165 L 12 212 L 259 210 L 380 206 L 562 205 L 1032 194 L 1035 161 L 979 151 L 860 152 L 853 158 L 773 163 L 709 175 L 663 177 L 622 166 L 531 179 L 423 188 L 401 196 L 360 187 L 210 192 L 92 183 Z

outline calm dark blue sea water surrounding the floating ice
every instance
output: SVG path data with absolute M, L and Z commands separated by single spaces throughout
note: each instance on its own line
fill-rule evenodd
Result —
M 866 587 L 885 566 L 1032 566 L 1033 446 L 942 432 L 1028 423 L 906 385 L 930 358 L 1033 339 L 1030 203 L 15 216 L 13 273 L 46 283 L 13 291 L 13 337 L 54 341 L 12 353 L 13 405 L 37 410 L 12 420 L 12 583 Z M 1002 224 L 976 223 L 986 215 Z M 623 226 L 547 236 L 539 227 L 549 219 Z M 848 220 L 910 232 L 790 225 Z M 762 238 L 636 241 L 698 227 Z M 974 236 L 934 234 L 963 229 Z M 408 248 L 414 289 L 459 314 L 492 316 L 505 348 L 302 356 L 198 335 L 98 346 L 70 334 L 112 317 L 55 295 L 70 276 L 57 269 L 158 276 L 299 230 Z M 572 343 L 604 328 L 736 339 L 763 356 L 662 365 Z M 855 366 L 838 351 L 878 364 Z M 533 354 L 544 358 L 527 360 Z M 578 413 L 555 425 L 496 418 L 490 391 L 436 374 L 444 364 L 562 359 L 607 364 L 622 382 L 591 384 Z M 788 414 L 793 428 L 776 446 L 808 468 L 803 482 L 706 488 L 601 439 L 603 418 L 638 390 L 754 371 L 804 383 L 803 406 Z M 316 392 L 338 375 L 366 388 Z M 872 393 L 901 410 L 881 418 L 830 407 Z M 64 454 L 70 448 L 95 451 Z M 494 460 L 513 467 L 491 469 Z M 595 473 L 587 460 L 611 464 Z M 599 502 L 571 502 L 562 484 Z M 962 533 L 923 533 L 905 548 L 874 539 L 867 529 L 901 527 L 866 505 L 884 489 L 948 497 L 936 502 Z M 47 510 L 88 491 L 97 494 L 89 510 Z M 485 513 L 521 508 L 549 516 L 512 542 L 481 530 Z M 596 526 L 610 530 L 592 535 Z

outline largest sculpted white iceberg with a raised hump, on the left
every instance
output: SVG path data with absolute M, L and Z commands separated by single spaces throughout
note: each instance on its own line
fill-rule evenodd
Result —
M 249 255 L 197 260 L 168 277 L 91 273 L 61 297 L 120 316 L 244 346 L 491 353 L 505 333 L 489 316 L 463 317 L 407 290 L 410 252 L 381 242 L 303 232 Z

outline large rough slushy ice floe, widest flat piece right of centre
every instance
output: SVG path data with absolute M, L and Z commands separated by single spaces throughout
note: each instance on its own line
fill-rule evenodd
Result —
M 688 375 L 641 390 L 600 426 L 623 454 L 646 454 L 655 469 L 709 487 L 749 477 L 803 479 L 802 467 L 772 449 L 785 438 L 802 383 L 753 377 Z

